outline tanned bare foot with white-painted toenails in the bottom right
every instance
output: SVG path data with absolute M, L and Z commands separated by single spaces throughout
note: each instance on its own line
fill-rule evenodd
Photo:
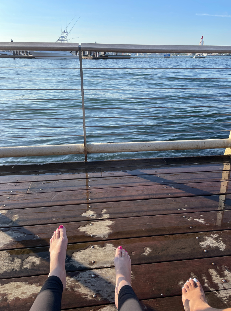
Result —
M 185 311 L 212 311 L 205 298 L 204 290 L 197 279 L 189 279 L 182 288 L 182 302 Z

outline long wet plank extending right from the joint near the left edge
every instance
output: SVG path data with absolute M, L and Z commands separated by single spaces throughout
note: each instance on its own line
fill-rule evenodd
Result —
M 94 179 L 71 179 L 44 182 L 32 182 L 27 193 L 71 191 L 81 189 L 101 189 L 177 183 L 202 183 L 229 180 L 230 171 L 175 173 L 161 175 L 139 175 L 104 177 Z

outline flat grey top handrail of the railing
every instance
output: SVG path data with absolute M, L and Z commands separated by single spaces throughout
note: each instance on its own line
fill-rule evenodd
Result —
M 60 44 L 51 42 L 0 42 L 0 50 L 78 51 L 79 44 Z M 83 43 L 81 45 L 81 50 L 125 53 L 231 53 L 231 46 Z

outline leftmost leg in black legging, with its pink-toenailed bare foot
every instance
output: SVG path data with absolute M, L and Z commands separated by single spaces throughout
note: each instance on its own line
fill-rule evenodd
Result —
M 30 311 L 60 311 L 63 288 L 66 287 L 65 258 L 67 235 L 64 226 L 50 239 L 50 273 Z

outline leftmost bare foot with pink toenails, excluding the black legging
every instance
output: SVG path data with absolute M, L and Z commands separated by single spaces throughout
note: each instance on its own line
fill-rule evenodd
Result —
M 54 231 L 50 239 L 50 273 L 49 276 L 55 275 L 62 281 L 63 289 L 66 287 L 66 270 L 65 259 L 67 250 L 67 234 L 64 226 Z

